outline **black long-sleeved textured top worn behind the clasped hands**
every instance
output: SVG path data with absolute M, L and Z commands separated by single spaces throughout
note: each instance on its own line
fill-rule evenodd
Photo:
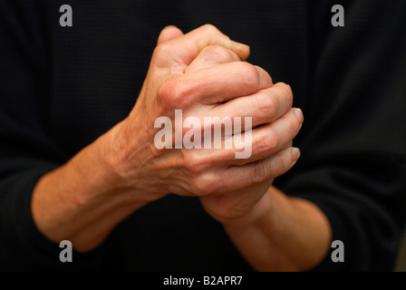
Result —
M 312 200 L 343 240 L 314 270 L 391 270 L 406 212 L 406 3 L 399 1 L 0 1 L 0 269 L 251 270 L 197 198 L 169 196 L 89 254 L 59 261 L 34 227 L 43 173 L 124 119 L 160 30 L 215 24 L 249 62 L 289 83 L 305 121 L 302 157 L 275 180 Z M 345 8 L 345 26 L 330 23 Z

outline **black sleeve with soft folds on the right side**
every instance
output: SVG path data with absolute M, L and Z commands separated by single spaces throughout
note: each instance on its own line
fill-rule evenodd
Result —
M 342 4 L 344 27 L 313 11 L 325 37 L 313 40 L 302 157 L 277 182 L 321 208 L 343 241 L 344 262 L 332 249 L 314 270 L 391 271 L 406 221 L 406 3 Z

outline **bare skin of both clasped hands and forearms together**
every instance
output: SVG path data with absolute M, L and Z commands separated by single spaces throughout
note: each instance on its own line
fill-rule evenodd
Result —
M 245 62 L 248 55 L 247 45 L 212 25 L 189 34 L 164 29 L 130 115 L 38 181 L 32 210 L 43 235 L 90 251 L 124 218 L 172 193 L 198 197 L 256 270 L 316 266 L 331 243 L 327 218 L 272 186 L 300 156 L 292 141 L 303 114 L 292 108 L 290 87 Z M 236 150 L 224 149 L 158 150 L 154 121 L 173 119 L 175 109 L 184 118 L 252 117 L 251 157 L 237 160 Z

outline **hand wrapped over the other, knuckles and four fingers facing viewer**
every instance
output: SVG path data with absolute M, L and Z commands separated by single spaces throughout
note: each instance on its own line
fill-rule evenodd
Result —
M 281 164 L 265 170 L 268 158 L 291 144 L 300 129 L 291 109 L 292 92 L 283 83 L 274 85 L 263 69 L 243 62 L 248 54 L 247 45 L 230 41 L 212 25 L 189 34 L 173 26 L 162 31 L 139 100 L 113 128 L 107 144 L 122 187 L 150 200 L 170 192 L 206 196 L 246 188 L 290 169 L 291 164 Z M 236 149 L 158 150 L 155 120 L 166 116 L 174 125 L 179 109 L 183 118 L 196 116 L 202 123 L 203 117 L 228 116 L 252 117 L 253 128 L 266 125 L 253 131 L 253 151 L 246 160 L 236 160 Z M 258 177 L 258 172 L 266 174 Z

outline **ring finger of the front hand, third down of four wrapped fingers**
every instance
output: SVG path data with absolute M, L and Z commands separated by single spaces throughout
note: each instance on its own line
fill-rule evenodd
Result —
M 226 136 L 226 140 L 222 140 L 221 150 L 214 149 L 213 146 L 212 149 L 205 150 L 201 158 L 209 164 L 222 164 L 225 167 L 266 159 L 285 149 L 286 144 L 291 144 L 300 131 L 302 122 L 302 111 L 291 109 L 278 120 L 248 131 L 248 135 L 247 132 L 243 132 L 241 136 L 239 134 Z M 234 130 L 236 131 L 236 128 Z M 247 137 L 249 134 L 251 137 Z M 228 144 L 233 145 L 227 148 L 224 145 L 227 141 Z M 236 144 L 239 145 L 236 146 Z

